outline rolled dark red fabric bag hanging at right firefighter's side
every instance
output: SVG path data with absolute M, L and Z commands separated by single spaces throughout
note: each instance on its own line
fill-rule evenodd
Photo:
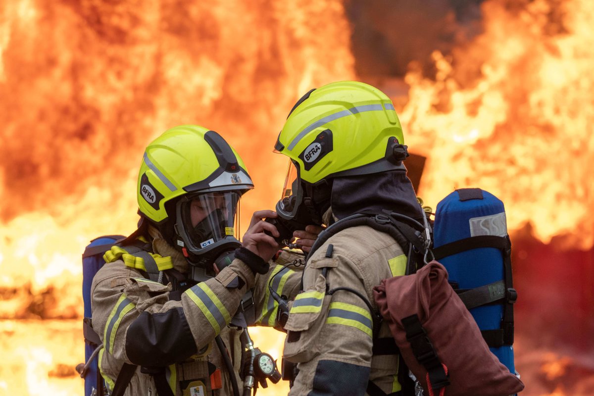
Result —
M 427 372 L 406 340 L 402 319 L 417 315 L 438 359 L 447 366 L 450 385 L 445 396 L 508 396 L 524 389 L 516 375 L 489 351 L 481 331 L 447 282 L 447 271 L 432 261 L 416 274 L 384 279 L 374 299 L 387 321 L 410 371 L 425 394 Z

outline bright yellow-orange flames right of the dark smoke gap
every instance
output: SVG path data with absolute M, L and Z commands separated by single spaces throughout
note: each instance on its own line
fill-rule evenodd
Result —
M 594 4 L 488 1 L 482 14 L 472 42 L 433 53 L 435 81 L 406 76 L 407 144 L 429 158 L 421 193 L 437 203 L 481 186 L 505 202 L 510 229 L 590 248 Z

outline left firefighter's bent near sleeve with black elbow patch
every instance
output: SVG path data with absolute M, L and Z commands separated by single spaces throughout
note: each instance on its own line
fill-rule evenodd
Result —
M 175 301 L 169 300 L 170 285 L 147 280 L 122 261 L 111 262 L 93 278 L 93 329 L 105 352 L 118 360 L 172 365 L 207 346 L 229 324 L 252 284 L 251 270 L 235 260 Z

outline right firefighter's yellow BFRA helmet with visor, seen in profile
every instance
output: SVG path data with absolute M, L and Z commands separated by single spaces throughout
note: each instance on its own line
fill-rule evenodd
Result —
M 274 148 L 290 158 L 277 205 L 285 218 L 294 218 L 304 195 L 311 195 L 302 182 L 315 186 L 338 176 L 405 169 L 402 160 L 408 155 L 390 98 L 356 81 L 330 83 L 305 94 L 289 113 Z

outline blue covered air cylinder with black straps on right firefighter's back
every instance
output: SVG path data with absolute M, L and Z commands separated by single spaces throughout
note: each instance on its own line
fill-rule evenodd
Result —
M 503 202 L 479 188 L 459 189 L 437 204 L 433 254 L 472 313 L 489 349 L 511 373 L 514 311 L 511 242 Z

